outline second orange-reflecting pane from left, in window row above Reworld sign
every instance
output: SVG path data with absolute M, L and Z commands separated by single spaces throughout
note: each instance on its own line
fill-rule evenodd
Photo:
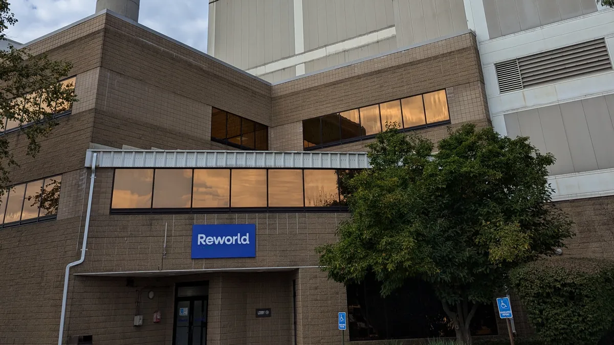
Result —
M 153 208 L 190 207 L 192 169 L 155 169 Z

